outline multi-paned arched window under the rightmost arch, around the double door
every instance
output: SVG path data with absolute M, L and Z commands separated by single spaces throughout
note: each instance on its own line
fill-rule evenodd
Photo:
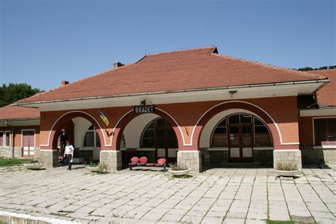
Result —
M 230 125 L 230 133 L 228 133 L 228 125 Z M 254 147 L 273 145 L 270 131 L 264 122 L 255 116 L 240 113 L 224 118 L 215 126 L 211 135 L 211 147 L 228 147 L 230 135 L 238 135 L 239 133 L 242 137 L 242 145 L 250 144 L 251 134 L 254 136 Z M 239 138 L 235 138 L 235 140 L 239 140 Z M 231 141 L 231 145 L 239 144 L 240 142 Z

